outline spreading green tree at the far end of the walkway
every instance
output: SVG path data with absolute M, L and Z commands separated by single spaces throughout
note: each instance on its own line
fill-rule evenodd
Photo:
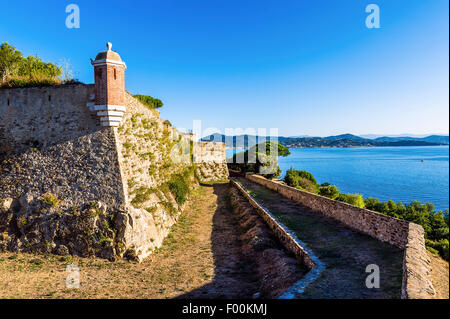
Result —
M 289 150 L 278 142 L 266 141 L 252 146 L 245 152 L 233 155 L 228 167 L 242 173 L 258 173 L 266 178 L 280 176 L 278 156 L 288 156 Z

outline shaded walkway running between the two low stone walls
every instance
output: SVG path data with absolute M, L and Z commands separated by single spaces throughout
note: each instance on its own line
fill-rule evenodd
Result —
M 402 250 L 313 213 L 245 178 L 237 180 L 326 264 L 321 276 L 297 298 L 400 298 Z M 369 264 L 379 266 L 379 289 L 365 285 Z

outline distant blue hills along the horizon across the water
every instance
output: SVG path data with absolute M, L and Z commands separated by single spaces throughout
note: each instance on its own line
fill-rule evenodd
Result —
M 225 136 L 212 134 L 202 138 L 202 141 L 224 142 L 226 147 L 249 148 L 257 143 L 269 140 L 269 136 L 237 135 Z M 275 137 L 273 137 L 275 139 Z M 317 147 L 363 147 L 363 146 L 436 146 L 448 145 L 449 137 L 430 135 L 427 137 L 378 137 L 376 139 L 363 138 L 353 134 L 341 134 L 326 137 L 278 137 L 278 141 L 290 148 Z

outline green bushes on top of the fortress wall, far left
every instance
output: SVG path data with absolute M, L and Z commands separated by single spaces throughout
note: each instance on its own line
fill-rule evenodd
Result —
M 15 47 L 3 42 L 0 45 L 0 87 L 30 87 L 75 82 L 71 72 L 51 62 L 42 61 L 37 55 L 24 57 Z

